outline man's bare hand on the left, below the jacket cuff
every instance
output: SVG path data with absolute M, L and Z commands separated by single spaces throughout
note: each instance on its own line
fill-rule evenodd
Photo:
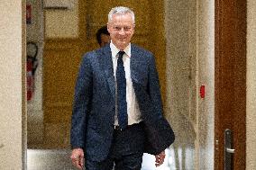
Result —
M 82 148 L 74 148 L 71 153 L 72 163 L 78 169 L 83 170 L 84 168 L 84 151 Z

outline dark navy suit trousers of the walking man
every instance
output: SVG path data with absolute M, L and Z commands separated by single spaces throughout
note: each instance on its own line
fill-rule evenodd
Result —
M 145 134 L 142 123 L 114 130 L 113 142 L 108 156 L 101 162 L 87 160 L 86 170 L 140 170 Z

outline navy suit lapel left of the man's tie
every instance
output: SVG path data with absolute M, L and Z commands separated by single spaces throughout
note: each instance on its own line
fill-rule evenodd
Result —
M 109 47 L 109 44 L 103 48 L 103 55 L 99 59 L 101 61 L 101 66 L 105 72 L 105 78 L 109 85 L 110 92 L 114 98 L 114 69 L 113 69 L 113 61 L 112 61 L 112 53 Z

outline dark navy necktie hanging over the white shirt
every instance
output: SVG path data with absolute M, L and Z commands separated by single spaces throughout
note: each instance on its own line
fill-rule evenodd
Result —
M 123 67 L 124 51 L 118 52 L 116 67 L 116 83 L 117 83 L 117 118 L 121 129 L 125 129 L 128 124 L 127 103 L 126 103 L 126 78 Z

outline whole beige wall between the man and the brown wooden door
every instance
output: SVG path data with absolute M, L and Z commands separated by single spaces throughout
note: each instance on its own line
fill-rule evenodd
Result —
M 176 167 L 214 169 L 215 0 L 166 1 L 165 18 L 166 111 L 177 134 Z M 205 99 L 199 96 L 201 85 Z

